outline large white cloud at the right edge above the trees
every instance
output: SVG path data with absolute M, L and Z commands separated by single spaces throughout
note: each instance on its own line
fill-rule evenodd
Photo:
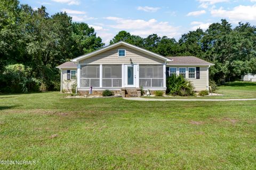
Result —
M 240 21 L 255 21 L 256 20 L 256 5 L 244 6 L 239 5 L 233 10 L 223 10 L 222 7 L 217 10 L 211 10 L 213 17 L 228 18 L 231 22 L 237 23 Z M 255 23 L 255 22 L 254 22 Z

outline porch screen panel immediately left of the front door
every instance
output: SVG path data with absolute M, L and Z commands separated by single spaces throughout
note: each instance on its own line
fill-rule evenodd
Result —
M 102 87 L 122 87 L 122 65 L 102 66 Z

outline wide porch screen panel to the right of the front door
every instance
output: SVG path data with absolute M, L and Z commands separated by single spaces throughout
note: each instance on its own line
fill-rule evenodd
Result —
M 140 86 L 163 87 L 163 65 L 140 65 Z

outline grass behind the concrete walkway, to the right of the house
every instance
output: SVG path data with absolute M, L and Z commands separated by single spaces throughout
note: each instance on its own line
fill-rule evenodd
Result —
M 219 86 L 218 91 L 214 93 L 223 94 L 223 96 L 167 96 L 177 99 L 250 99 L 256 98 L 256 82 L 230 82 Z M 143 98 L 163 98 L 166 96 L 143 96 Z

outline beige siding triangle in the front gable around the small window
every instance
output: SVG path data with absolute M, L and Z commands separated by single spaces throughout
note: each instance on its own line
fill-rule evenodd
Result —
M 118 49 L 125 49 L 126 56 L 118 57 Z M 163 64 L 165 61 L 126 46 L 118 46 L 90 58 L 80 61 L 81 64 Z

